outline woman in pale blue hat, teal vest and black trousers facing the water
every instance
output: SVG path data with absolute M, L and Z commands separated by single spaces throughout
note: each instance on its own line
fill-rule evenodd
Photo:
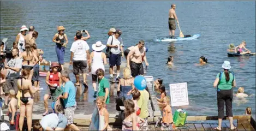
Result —
M 236 127 L 233 124 L 232 100 L 233 87 L 236 87 L 235 75 L 229 72 L 231 68 L 229 61 L 224 61 L 222 64 L 224 72 L 218 73 L 213 87 L 217 87 L 217 102 L 218 102 L 218 127 L 216 130 L 221 130 L 222 119 L 224 118 L 224 105 L 226 107 L 226 115 L 229 117 L 230 129 Z

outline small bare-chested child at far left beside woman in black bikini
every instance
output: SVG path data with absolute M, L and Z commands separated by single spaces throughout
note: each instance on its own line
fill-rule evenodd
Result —
M 9 104 L 8 104 L 8 111 L 9 111 L 9 121 L 10 124 L 14 124 L 14 118 L 16 118 L 17 115 L 17 99 L 15 98 L 15 91 L 14 90 L 10 90 L 9 91 L 9 96 L 11 98 Z

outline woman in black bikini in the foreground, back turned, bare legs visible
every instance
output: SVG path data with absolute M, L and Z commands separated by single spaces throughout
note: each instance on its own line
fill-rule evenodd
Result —
M 22 93 L 20 97 L 20 130 L 23 128 L 24 117 L 27 117 L 28 130 L 32 127 L 32 111 L 34 100 L 32 98 L 33 93 L 39 91 L 39 87 L 33 87 L 31 80 L 28 80 L 30 74 L 29 69 L 23 69 L 21 79 L 17 81 L 17 86 Z

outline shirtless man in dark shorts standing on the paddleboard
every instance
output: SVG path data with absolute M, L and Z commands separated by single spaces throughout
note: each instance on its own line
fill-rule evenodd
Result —
M 175 24 L 175 20 L 177 21 L 178 24 L 178 18 L 177 15 L 175 13 L 175 8 L 176 5 L 175 4 L 171 4 L 171 9 L 169 10 L 169 35 L 171 38 L 174 38 L 174 34 L 175 34 L 175 29 L 176 29 L 176 24 Z

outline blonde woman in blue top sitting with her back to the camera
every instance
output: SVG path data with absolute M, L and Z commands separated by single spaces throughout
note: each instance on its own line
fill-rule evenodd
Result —
M 130 77 L 130 68 L 126 67 L 123 69 L 123 78 L 120 79 L 119 84 L 117 86 L 117 92 L 120 92 L 119 97 L 124 97 L 127 99 L 132 99 L 132 90 L 135 88 L 134 79 Z

